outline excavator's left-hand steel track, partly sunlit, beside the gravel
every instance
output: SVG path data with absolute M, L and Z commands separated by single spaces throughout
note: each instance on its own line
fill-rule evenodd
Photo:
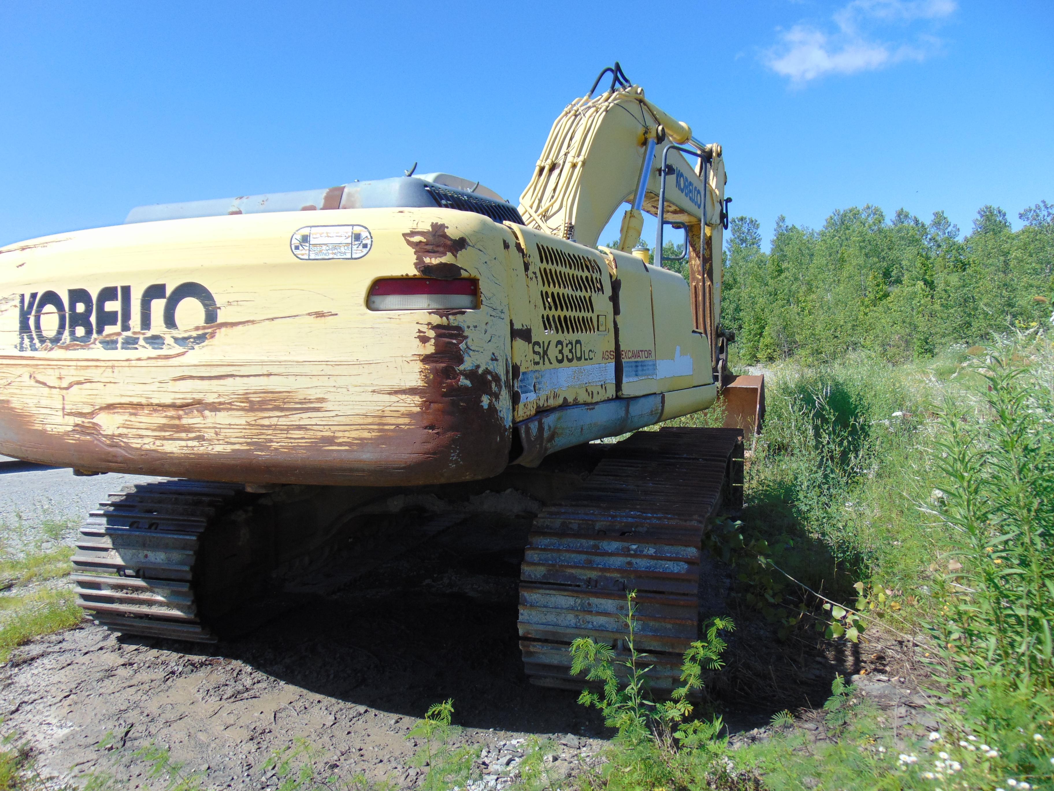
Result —
M 243 496 L 237 484 L 124 486 L 89 514 L 73 557 L 77 603 L 124 634 L 215 642 L 195 591 L 201 537 Z

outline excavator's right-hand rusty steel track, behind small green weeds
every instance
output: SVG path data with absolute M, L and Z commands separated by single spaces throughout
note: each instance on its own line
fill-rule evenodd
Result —
M 680 678 L 699 639 L 702 538 L 722 507 L 741 507 L 743 431 L 663 428 L 616 444 L 573 495 L 535 518 L 521 566 L 520 647 L 527 676 L 569 675 L 575 637 L 626 656 L 626 591 L 637 591 L 636 647 L 656 687 Z

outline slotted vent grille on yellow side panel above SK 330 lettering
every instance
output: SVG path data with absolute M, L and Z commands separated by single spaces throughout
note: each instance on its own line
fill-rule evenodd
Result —
M 538 255 L 542 261 L 542 327 L 545 331 L 577 335 L 596 332 L 593 296 L 604 293 L 600 264 L 548 245 L 539 245 Z

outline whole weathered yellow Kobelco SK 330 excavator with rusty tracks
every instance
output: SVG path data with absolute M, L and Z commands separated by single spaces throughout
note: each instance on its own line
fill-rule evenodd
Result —
M 764 409 L 719 324 L 725 180 L 721 146 L 616 63 L 557 118 L 519 206 L 411 169 L 0 248 L 0 454 L 162 479 L 87 515 L 72 578 L 99 624 L 176 640 L 222 638 L 378 502 L 533 494 L 530 680 L 566 686 L 578 636 L 624 651 L 637 591 L 637 648 L 672 683 L 704 533 L 741 501 Z M 724 427 L 639 430 L 719 397 Z

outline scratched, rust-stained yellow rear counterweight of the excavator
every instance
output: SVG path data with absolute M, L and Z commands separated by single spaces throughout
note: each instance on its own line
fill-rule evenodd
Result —
M 511 237 L 463 212 L 333 212 L 334 223 L 371 229 L 369 256 L 295 259 L 298 213 L 93 229 L 5 248 L 17 254 L 0 256 L 0 293 L 16 296 L 0 300 L 0 452 L 261 483 L 399 485 L 500 471 L 512 423 L 504 292 L 510 264 L 521 267 L 503 245 Z M 366 309 L 373 279 L 421 266 L 477 277 L 484 307 Z M 165 281 L 200 282 L 215 296 L 216 321 L 201 323 L 199 309 L 193 323 L 191 304 L 180 330 L 201 343 L 132 346 L 124 342 L 143 333 L 133 320 L 87 343 L 18 349 L 17 294 L 131 284 L 137 295 Z M 103 340 L 118 343 L 105 349 Z

